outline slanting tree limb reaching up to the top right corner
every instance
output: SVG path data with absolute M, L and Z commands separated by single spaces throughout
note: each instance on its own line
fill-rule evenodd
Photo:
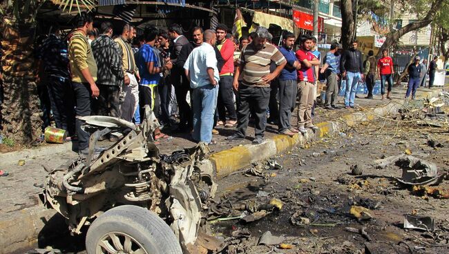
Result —
M 430 24 L 433 21 L 439 8 L 441 8 L 443 1 L 445 1 L 445 0 L 433 0 L 432 6 L 430 7 L 429 12 L 427 12 L 426 17 L 424 17 L 423 19 L 416 21 L 414 23 L 409 23 L 407 26 L 404 26 L 403 28 L 401 28 L 397 31 L 390 32 L 390 34 L 387 35 L 385 42 L 382 44 L 382 47 L 379 49 L 379 52 L 377 53 L 377 57 L 382 56 L 382 51 L 384 49 L 388 49 L 391 46 L 396 45 L 396 43 L 398 43 L 398 41 L 399 41 L 399 38 L 401 38 L 406 33 L 414 31 L 414 30 L 418 30 L 419 28 L 423 28 L 425 26 L 428 26 L 428 24 Z M 342 17 L 343 17 L 343 13 L 342 13 Z

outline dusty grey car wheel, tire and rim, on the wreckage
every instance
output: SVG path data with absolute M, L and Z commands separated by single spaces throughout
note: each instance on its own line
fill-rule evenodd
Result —
M 130 205 L 117 206 L 95 219 L 87 231 L 86 251 L 182 254 L 178 239 L 163 219 L 145 208 Z

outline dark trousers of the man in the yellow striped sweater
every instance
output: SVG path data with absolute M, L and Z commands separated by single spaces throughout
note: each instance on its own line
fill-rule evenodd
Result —
M 72 83 L 73 93 L 75 95 L 76 108 L 75 114 L 77 117 L 86 117 L 92 112 L 91 99 L 92 91 L 90 85 L 87 83 Z M 78 150 L 84 150 L 89 146 L 90 134 L 82 130 L 83 122 L 80 119 L 76 119 L 76 132 L 78 136 Z

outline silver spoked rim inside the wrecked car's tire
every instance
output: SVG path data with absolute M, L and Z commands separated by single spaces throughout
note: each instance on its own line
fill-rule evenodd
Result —
M 149 254 L 131 235 L 120 232 L 104 234 L 97 242 L 96 254 Z

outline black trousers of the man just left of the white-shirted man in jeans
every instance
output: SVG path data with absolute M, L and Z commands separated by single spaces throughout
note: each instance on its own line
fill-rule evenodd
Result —
M 178 72 L 178 71 L 177 71 Z M 190 82 L 185 75 L 180 72 L 172 73 L 173 86 L 175 86 L 176 101 L 178 101 L 178 109 L 180 111 L 180 126 L 192 127 L 192 110 L 186 101 L 187 92 L 190 89 Z

